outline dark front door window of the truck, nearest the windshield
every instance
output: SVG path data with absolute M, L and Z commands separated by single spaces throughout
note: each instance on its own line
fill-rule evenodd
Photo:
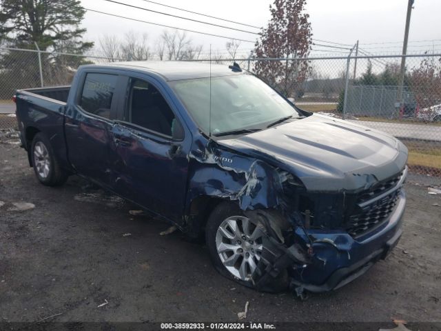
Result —
M 137 126 L 172 136 L 174 114 L 161 93 L 147 81 L 131 81 L 129 119 Z

